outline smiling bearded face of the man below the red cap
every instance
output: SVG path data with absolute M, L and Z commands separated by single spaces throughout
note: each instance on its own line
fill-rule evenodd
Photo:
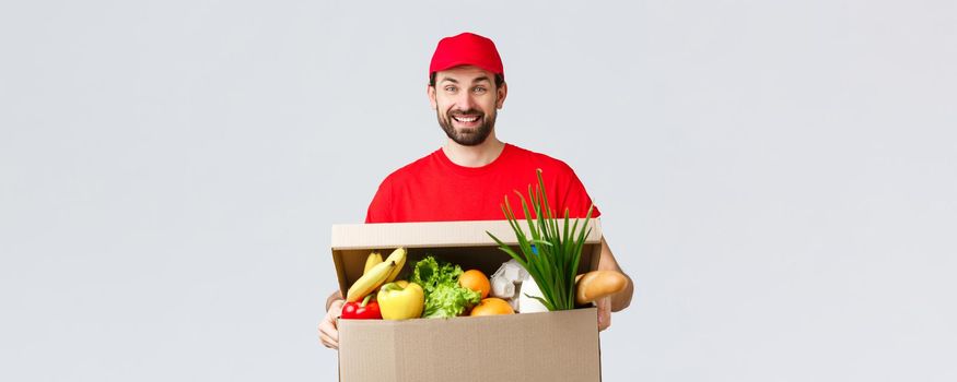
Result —
M 495 110 L 505 102 L 505 84 L 495 86 L 494 74 L 464 65 L 435 73 L 429 100 L 439 126 L 450 139 L 464 146 L 479 145 L 495 127 Z

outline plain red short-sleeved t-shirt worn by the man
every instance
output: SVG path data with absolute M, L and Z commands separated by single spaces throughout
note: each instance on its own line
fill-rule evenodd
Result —
M 538 168 L 558 217 L 564 217 L 565 208 L 572 218 L 585 217 L 592 199 L 569 165 L 505 144 L 499 157 L 482 167 L 456 165 L 440 148 L 396 170 L 378 187 L 365 223 L 501 220 L 505 195 L 515 216 L 524 218 L 515 191 L 527 200 L 528 186 L 538 187 Z M 592 217 L 598 215 L 595 207 Z

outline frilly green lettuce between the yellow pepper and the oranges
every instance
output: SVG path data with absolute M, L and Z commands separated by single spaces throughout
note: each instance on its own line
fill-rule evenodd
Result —
M 458 285 L 459 275 L 462 267 L 446 262 L 440 263 L 433 256 L 416 263 L 411 282 L 421 285 L 425 293 L 423 318 L 456 317 L 481 301 L 481 294 Z

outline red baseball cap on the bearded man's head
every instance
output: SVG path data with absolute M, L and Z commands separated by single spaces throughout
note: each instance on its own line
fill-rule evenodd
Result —
M 429 76 L 458 65 L 476 65 L 505 77 L 495 43 L 474 33 L 466 32 L 441 39 L 432 55 L 432 63 L 429 64 Z

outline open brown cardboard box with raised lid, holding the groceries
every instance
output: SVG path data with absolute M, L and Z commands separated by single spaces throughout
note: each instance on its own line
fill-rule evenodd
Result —
M 600 253 L 600 225 L 592 220 L 590 227 L 580 273 L 594 270 Z M 516 243 L 504 220 L 334 226 L 339 288 L 345 296 L 362 275 L 372 250 L 387 255 L 398 247 L 408 250 L 400 278 L 425 255 L 491 275 L 511 258 L 486 231 Z M 602 379 L 595 308 L 407 321 L 339 320 L 338 325 L 342 382 Z

